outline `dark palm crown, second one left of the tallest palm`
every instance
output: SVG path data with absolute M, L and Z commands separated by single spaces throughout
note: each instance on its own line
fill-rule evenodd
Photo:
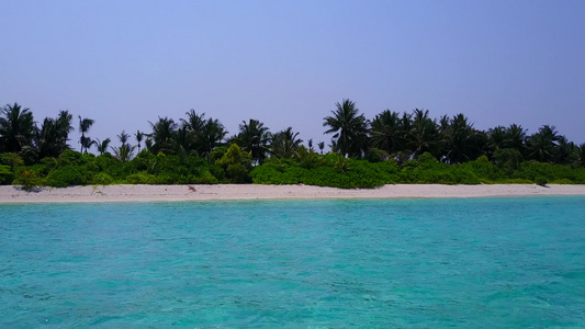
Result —
M 250 118 L 248 123 L 245 121 L 239 124 L 239 134 L 234 138 L 241 149 L 250 152 L 252 161 L 262 163 L 268 151 L 268 143 L 271 134 L 265 124 Z

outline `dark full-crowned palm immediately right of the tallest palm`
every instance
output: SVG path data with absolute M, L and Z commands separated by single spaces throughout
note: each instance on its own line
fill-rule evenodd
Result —
M 404 150 L 405 134 L 400 114 L 385 110 L 372 121 L 370 143 L 375 148 L 394 154 Z

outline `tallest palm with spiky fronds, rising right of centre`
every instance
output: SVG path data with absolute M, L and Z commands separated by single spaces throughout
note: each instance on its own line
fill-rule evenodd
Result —
M 323 118 L 323 126 L 329 127 L 325 134 L 334 134 L 334 150 L 344 157 L 361 157 L 368 148 L 368 121 L 350 100 L 336 103 L 336 106 L 331 116 Z

